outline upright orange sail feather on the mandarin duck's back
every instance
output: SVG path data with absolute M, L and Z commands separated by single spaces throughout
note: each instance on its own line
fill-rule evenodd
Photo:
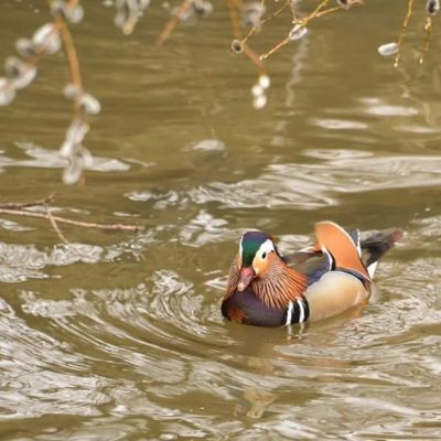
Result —
M 368 282 L 372 281 L 372 276 L 362 260 L 357 232 L 348 234 L 340 225 L 324 220 L 315 224 L 315 236 L 322 252 L 330 259 L 331 269 L 340 268 Z

